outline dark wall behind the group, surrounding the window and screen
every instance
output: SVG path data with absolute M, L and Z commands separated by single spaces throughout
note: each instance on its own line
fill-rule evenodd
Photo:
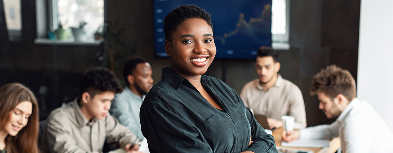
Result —
M 356 79 L 360 0 L 290 3 L 290 49 L 281 51 L 279 73 L 301 89 L 308 126 L 330 123 L 332 120 L 318 110 L 317 97 L 309 94 L 310 80 L 330 64 L 348 69 Z M 132 56 L 150 61 L 154 83 L 158 82 L 169 59 L 154 58 L 152 1 L 107 0 L 106 5 L 107 20 L 124 28 L 121 41 L 134 47 Z M 78 77 L 85 68 L 102 65 L 96 54 L 103 47 L 34 45 L 34 0 L 22 0 L 22 15 L 22 41 L 0 44 L 0 85 L 25 83 L 42 99 L 41 112 L 48 113 L 77 95 Z M 8 49 L 4 48 L 7 45 Z M 254 61 L 216 59 L 206 74 L 226 81 L 238 93 L 245 83 L 257 78 Z

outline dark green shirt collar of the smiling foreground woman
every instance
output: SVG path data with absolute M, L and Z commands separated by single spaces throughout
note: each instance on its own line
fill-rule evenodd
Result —
M 174 72 L 170 67 L 162 68 L 161 78 L 168 81 L 168 83 L 171 84 L 176 90 L 180 88 L 180 85 L 182 85 L 184 80 L 187 80 L 185 77 L 180 76 L 180 74 Z M 202 75 L 200 79 L 201 81 L 210 81 L 210 78 L 205 75 Z

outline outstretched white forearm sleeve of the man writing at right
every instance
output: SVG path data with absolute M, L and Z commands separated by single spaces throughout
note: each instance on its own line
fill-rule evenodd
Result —
M 339 124 L 334 121 L 332 124 L 318 125 L 300 130 L 299 140 L 307 139 L 333 139 L 338 137 Z

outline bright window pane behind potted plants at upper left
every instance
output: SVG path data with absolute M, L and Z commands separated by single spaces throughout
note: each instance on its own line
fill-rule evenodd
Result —
M 49 27 L 53 30 L 60 24 L 70 29 L 86 22 L 86 38 L 93 39 L 94 32 L 104 25 L 104 0 L 51 0 L 50 6 Z

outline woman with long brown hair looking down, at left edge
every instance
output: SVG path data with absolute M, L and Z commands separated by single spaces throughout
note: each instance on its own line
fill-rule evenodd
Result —
M 38 104 L 19 83 L 0 87 L 0 151 L 37 153 Z

